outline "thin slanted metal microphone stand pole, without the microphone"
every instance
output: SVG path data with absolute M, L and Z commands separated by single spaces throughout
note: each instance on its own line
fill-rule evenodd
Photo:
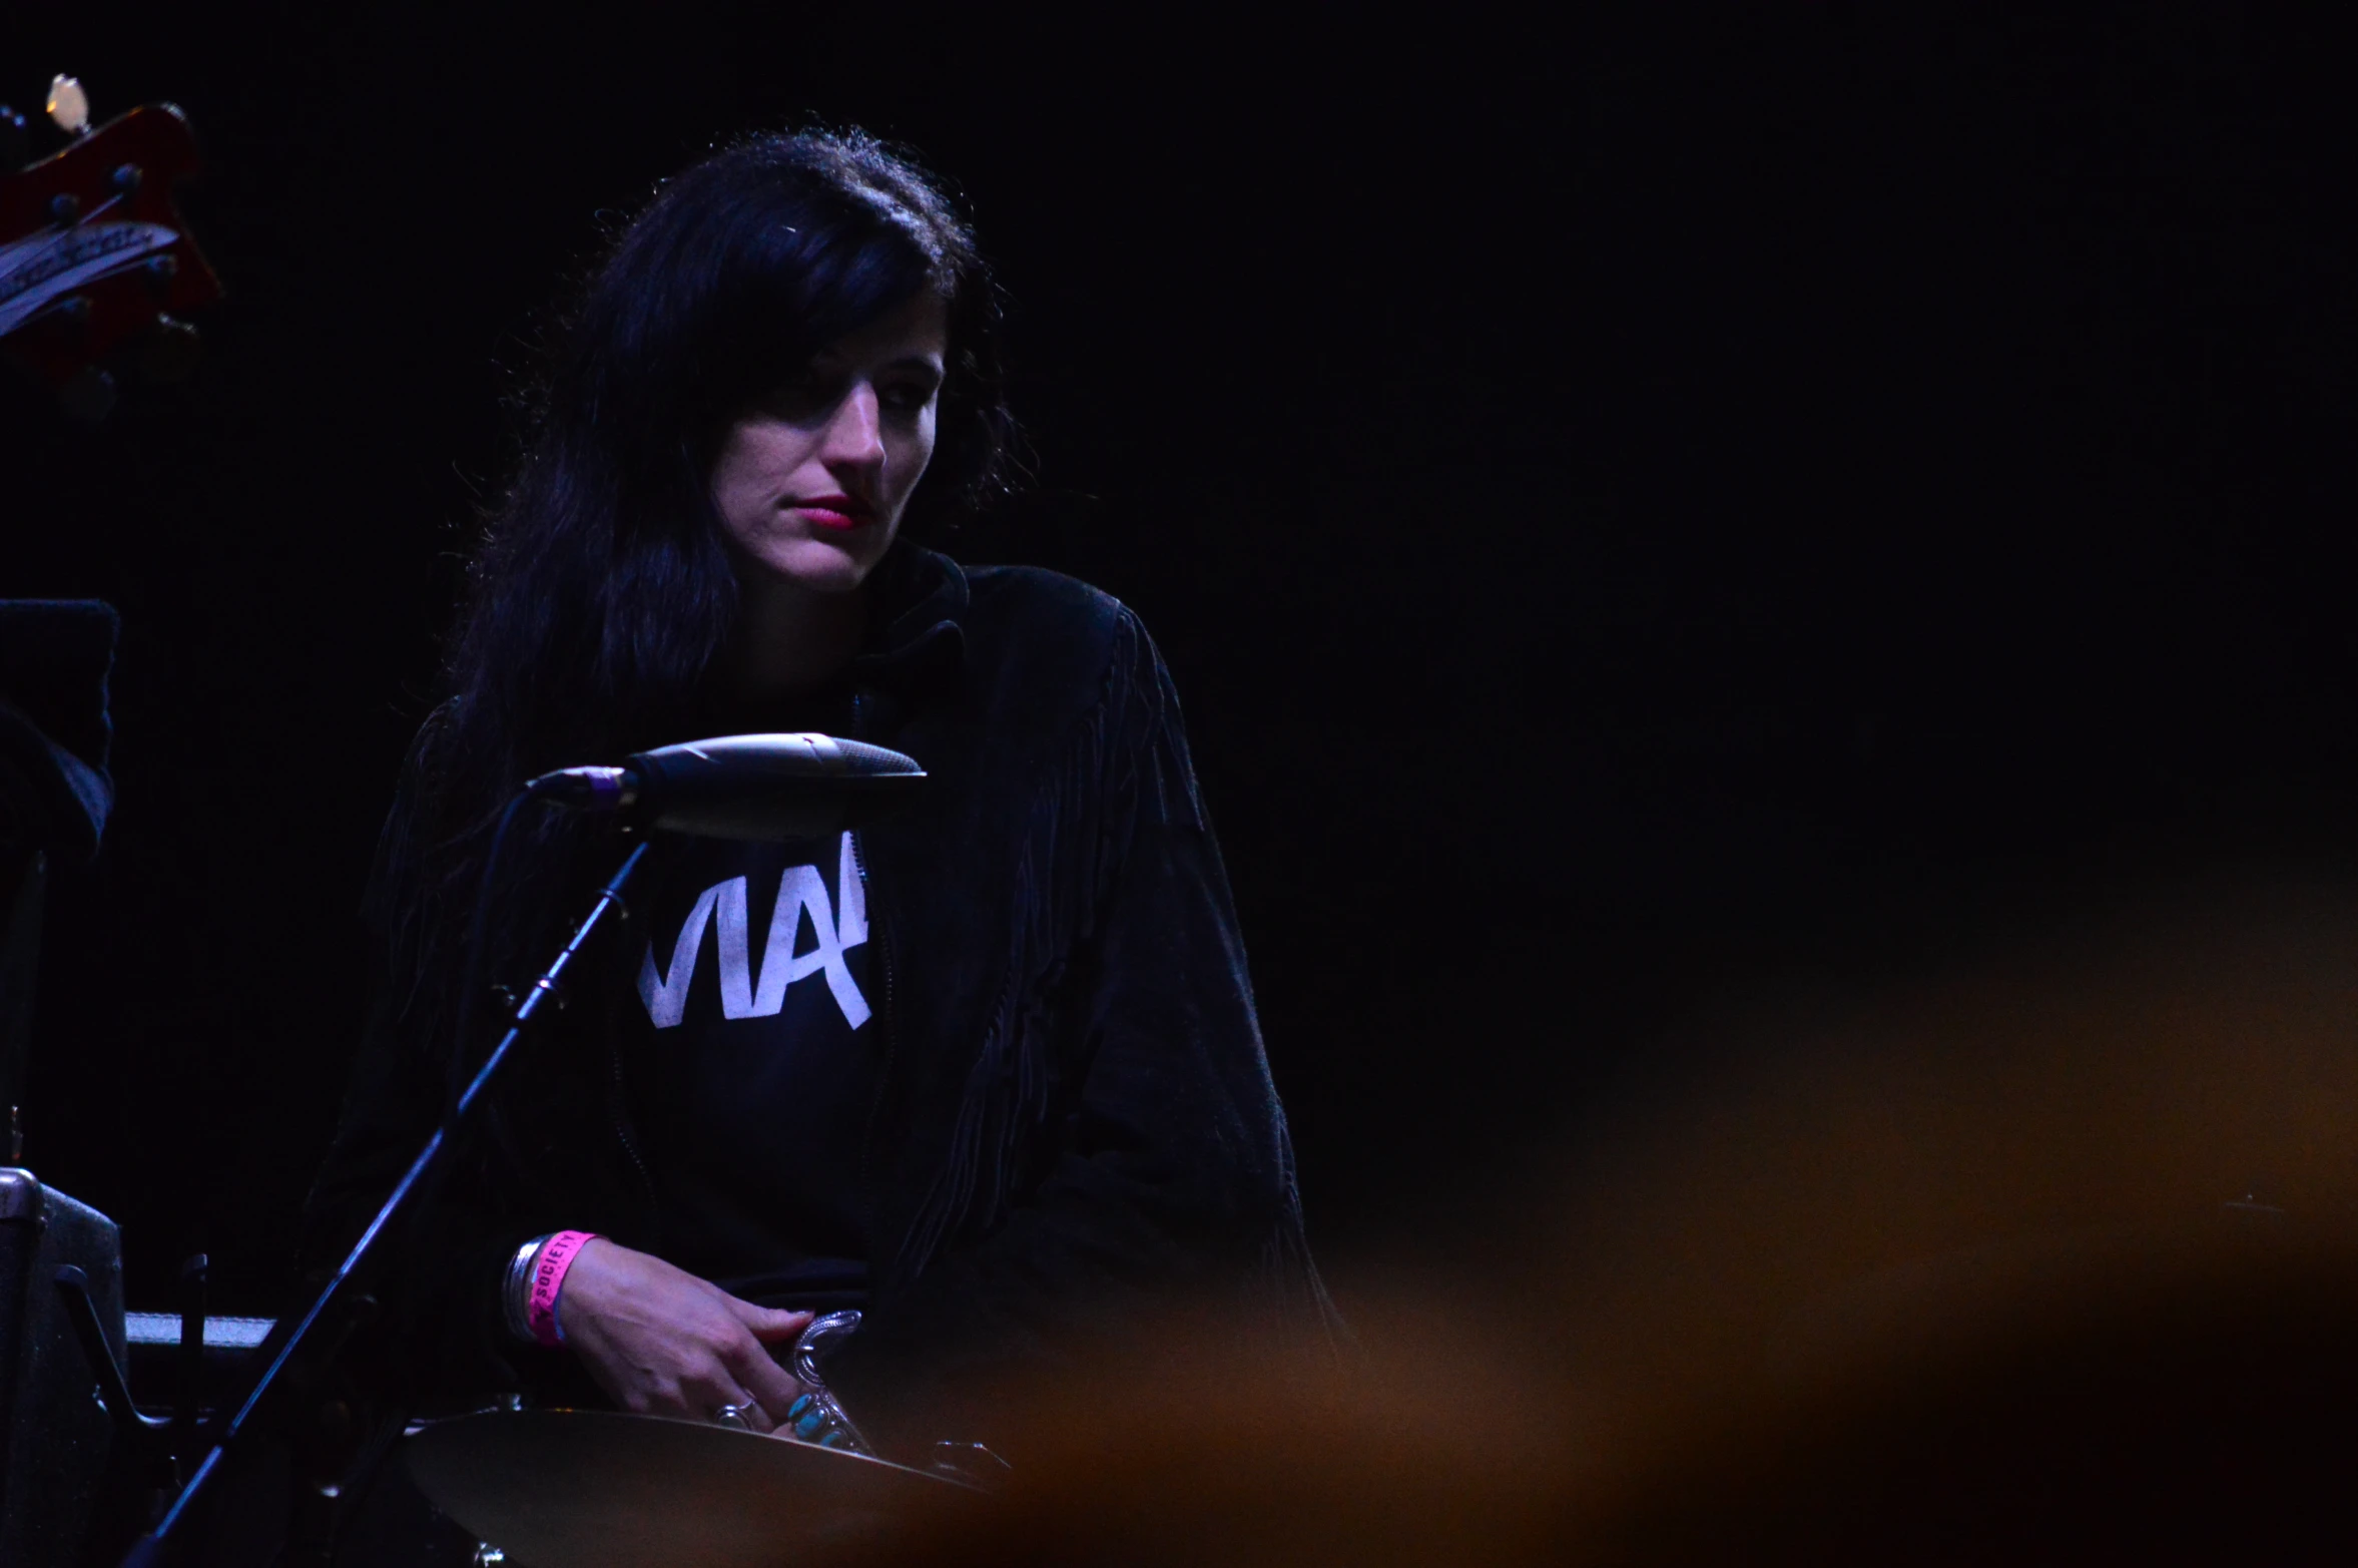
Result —
M 450 1158 L 450 1151 L 457 1146 L 460 1134 L 467 1132 L 474 1111 L 483 1103 L 483 1092 L 490 1087 L 493 1078 L 498 1078 L 500 1066 L 507 1063 L 507 1056 L 523 1037 L 523 1030 L 533 1023 L 533 1019 L 540 1016 L 540 1009 L 547 1007 L 566 969 L 573 964 L 582 946 L 590 941 L 590 934 L 597 931 L 606 913 L 623 901 L 623 887 L 630 882 L 632 872 L 639 870 L 639 861 L 644 858 L 646 858 L 646 844 L 639 844 L 637 849 L 630 851 L 630 858 L 623 861 L 623 865 L 613 872 L 613 877 L 606 879 L 606 887 L 599 889 L 597 903 L 590 908 L 587 920 L 582 920 L 580 927 L 573 931 L 573 938 L 566 941 L 566 948 L 564 953 L 556 955 L 556 962 L 552 962 L 542 971 L 542 976 L 533 981 L 533 986 L 526 990 L 523 1002 L 516 1007 L 516 1014 L 507 1026 L 507 1033 L 500 1037 L 500 1045 L 493 1047 L 490 1056 L 483 1059 L 481 1070 L 476 1070 L 467 1089 L 457 1096 L 457 1106 L 450 1108 L 450 1115 L 443 1118 L 443 1125 L 434 1129 L 432 1139 L 427 1139 L 427 1146 L 410 1162 L 408 1174 L 403 1174 L 401 1181 L 394 1184 L 394 1191 L 384 1200 L 384 1207 L 380 1207 L 377 1217 L 368 1221 L 368 1231 L 361 1233 L 361 1240 L 354 1243 L 351 1252 L 344 1257 L 342 1266 L 328 1280 L 325 1290 L 318 1292 L 318 1299 L 311 1302 L 304 1316 L 295 1323 L 295 1332 L 290 1332 L 285 1342 L 278 1346 L 278 1353 L 271 1358 L 271 1365 L 264 1368 L 259 1379 L 255 1379 L 252 1391 L 248 1391 L 236 1415 L 231 1415 L 229 1424 L 219 1429 L 212 1450 L 205 1452 L 205 1460 L 196 1467 L 196 1474 L 189 1476 L 189 1485 L 184 1485 L 179 1497 L 172 1500 L 172 1507 L 156 1523 L 156 1528 L 139 1537 L 139 1542 L 123 1559 L 123 1568 L 158 1568 L 160 1563 L 165 1563 L 172 1535 L 186 1528 L 186 1521 L 196 1514 L 198 1504 L 205 1497 L 208 1485 L 217 1483 L 222 1467 L 229 1462 L 231 1452 L 238 1445 L 238 1438 L 243 1438 L 252 1427 L 259 1424 L 257 1417 L 269 1405 L 274 1394 L 283 1384 L 295 1382 L 288 1368 L 292 1368 L 299 1356 L 304 1356 L 318 1344 L 328 1346 L 321 1353 L 323 1358 L 332 1358 L 335 1351 L 342 1346 L 344 1337 L 354 1327 L 354 1309 L 358 1309 L 361 1302 L 365 1299 L 361 1290 L 380 1266 L 377 1259 L 384 1254 L 382 1243 L 387 1233 L 396 1226 L 396 1221 L 401 1221 L 406 1212 L 420 1207 L 432 1195 L 441 1177 L 441 1170 Z M 311 1372 L 321 1368 L 311 1368 Z

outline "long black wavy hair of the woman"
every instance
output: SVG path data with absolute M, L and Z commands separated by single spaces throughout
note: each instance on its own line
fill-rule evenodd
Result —
M 424 1040 L 455 1012 L 490 825 L 547 769 L 681 738 L 736 627 L 710 469 L 729 424 L 818 349 L 934 290 L 948 363 L 934 462 L 905 528 L 1002 479 L 1012 422 L 997 288 L 913 158 L 863 132 L 755 134 L 663 184 L 556 323 L 523 401 L 514 483 L 488 516 L 450 639 L 448 700 L 413 752 L 373 917 Z M 549 927 L 580 835 L 519 818 L 486 974 Z

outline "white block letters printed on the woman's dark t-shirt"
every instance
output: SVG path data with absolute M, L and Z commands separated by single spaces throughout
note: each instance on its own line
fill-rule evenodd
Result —
M 868 997 L 851 979 L 844 953 L 868 941 L 868 889 L 861 887 L 861 865 L 844 835 L 835 868 L 837 896 L 828 898 L 828 884 L 816 865 L 790 865 L 778 879 L 778 903 L 769 915 L 769 938 L 762 943 L 762 969 L 755 974 L 752 922 L 745 908 L 745 877 L 729 877 L 696 896 L 696 908 L 672 941 L 672 962 L 656 971 L 656 943 L 646 943 L 639 960 L 639 1000 L 656 1028 L 674 1028 L 689 1012 L 689 986 L 696 981 L 696 957 L 705 948 L 705 922 L 719 927 L 719 981 L 724 1019 L 771 1019 L 785 1007 L 785 988 L 814 974 L 828 976 L 835 1004 L 844 1009 L 844 1023 L 858 1028 L 868 1021 Z M 802 931 L 802 913 L 811 913 L 816 943 L 809 953 L 795 953 L 795 936 Z

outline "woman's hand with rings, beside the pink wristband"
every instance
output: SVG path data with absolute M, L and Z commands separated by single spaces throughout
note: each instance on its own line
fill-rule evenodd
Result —
M 625 1410 L 710 1422 L 722 1405 L 743 1405 L 747 1427 L 771 1431 L 802 1394 L 766 1346 L 790 1344 L 811 1313 L 738 1302 L 606 1238 L 573 1259 L 556 1318 L 566 1344 Z

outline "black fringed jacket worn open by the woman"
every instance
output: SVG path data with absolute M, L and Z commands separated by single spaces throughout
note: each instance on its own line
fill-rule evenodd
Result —
M 870 1309 L 830 1384 L 884 1441 L 974 1438 L 969 1394 L 1120 1344 L 1174 1299 L 1325 1335 L 1226 872 L 1146 630 L 1071 578 L 967 573 L 913 545 L 872 589 L 856 733 L 931 780 L 861 832 L 889 1066 L 865 1160 Z M 592 957 L 618 981 L 637 955 Z M 521 1240 L 587 1228 L 663 1252 L 597 1014 L 575 997 L 528 1042 L 502 1137 L 389 1287 L 403 1361 L 446 1394 L 590 1396 L 566 1351 L 505 1337 L 498 1280 Z M 443 1082 L 380 1009 L 311 1198 L 314 1261 L 391 1188 Z

